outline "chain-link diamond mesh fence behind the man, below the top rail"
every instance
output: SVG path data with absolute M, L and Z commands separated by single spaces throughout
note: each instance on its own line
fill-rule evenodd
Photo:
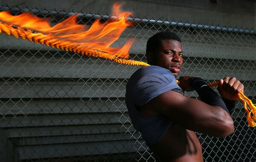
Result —
M 52 24 L 73 12 L 1 6 L 13 15 L 30 11 Z M 90 26 L 110 15 L 79 13 Z M 256 32 L 129 17 L 131 25 L 113 46 L 134 38 L 130 58 L 146 61 L 146 41 L 160 31 L 180 36 L 185 64 L 180 75 L 209 83 L 236 76 L 256 103 Z M 134 130 L 125 105 L 125 85 L 136 66 L 50 48 L 0 35 L 0 154 L 3 161 L 149 161 L 154 155 Z M 196 93 L 186 93 L 196 97 Z M 204 160 L 256 161 L 256 131 L 247 127 L 241 102 L 232 114 L 235 132 L 225 138 L 197 133 Z

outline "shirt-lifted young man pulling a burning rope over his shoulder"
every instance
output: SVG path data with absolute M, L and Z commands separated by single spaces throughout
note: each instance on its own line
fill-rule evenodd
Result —
M 202 162 L 195 134 L 224 137 L 234 131 L 230 116 L 244 86 L 236 78 L 219 81 L 215 93 L 201 78 L 176 77 L 183 64 L 181 40 L 172 32 L 149 38 L 146 56 L 151 66 L 138 69 L 126 86 L 125 102 L 134 128 L 163 162 Z M 196 90 L 200 100 L 183 91 Z

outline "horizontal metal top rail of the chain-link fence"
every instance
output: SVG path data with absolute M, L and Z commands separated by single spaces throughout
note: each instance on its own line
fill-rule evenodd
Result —
M 66 12 L 66 11 L 57 11 L 57 10 L 47 10 L 47 9 L 38 9 L 38 8 L 24 8 L 24 7 L 9 7 L 6 5 L 0 5 L 0 11 L 12 11 L 14 13 L 22 13 L 22 12 L 32 12 L 33 14 L 41 14 L 42 16 L 72 16 L 77 14 L 79 18 L 86 17 L 86 18 L 101 18 L 103 20 L 113 19 L 116 20 L 118 17 L 115 15 L 108 15 L 108 14 L 92 14 L 92 13 L 83 13 L 83 12 Z M 254 29 L 242 29 L 242 28 L 233 28 L 233 27 L 225 27 L 225 26 L 214 26 L 214 25 L 207 25 L 207 24 L 197 24 L 197 23 L 188 23 L 188 22 L 181 22 L 181 21 L 169 21 L 169 20 L 159 20 L 159 19 L 148 19 L 148 18 L 139 18 L 139 17 L 127 17 L 128 21 L 136 22 L 136 23 L 144 23 L 144 24 L 158 24 L 158 25 L 172 25 L 172 26 L 180 26 L 180 27 L 188 27 L 194 29 L 205 29 L 205 30 L 212 30 L 212 31 L 220 31 L 220 32 L 238 32 L 242 34 L 256 34 L 256 30 Z

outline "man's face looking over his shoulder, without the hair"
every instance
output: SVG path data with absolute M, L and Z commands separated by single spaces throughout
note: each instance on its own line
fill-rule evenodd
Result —
M 182 45 L 177 40 L 162 40 L 161 46 L 156 50 L 155 65 L 169 69 L 177 77 L 183 65 Z

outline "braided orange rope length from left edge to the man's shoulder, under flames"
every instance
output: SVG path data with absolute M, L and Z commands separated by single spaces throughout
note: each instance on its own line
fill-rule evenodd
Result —
M 57 49 L 64 49 L 66 51 L 72 51 L 79 53 L 81 55 L 87 55 L 97 58 L 105 58 L 111 61 L 114 61 L 119 64 L 126 64 L 126 65 L 137 65 L 137 66 L 149 66 L 149 64 L 142 62 L 142 61 L 135 61 L 135 60 L 126 60 L 123 58 L 118 58 L 114 55 L 110 55 L 106 52 L 93 50 L 93 49 L 85 49 L 80 48 L 76 45 L 73 45 L 71 41 L 63 41 L 49 35 L 44 35 L 41 33 L 34 33 L 31 30 L 26 30 L 22 28 L 14 28 L 9 26 L 6 23 L 0 22 L 0 33 L 5 33 L 6 35 L 12 35 L 15 38 L 22 38 L 27 39 L 29 41 L 33 41 L 35 43 L 45 44 L 47 46 L 55 47 Z

